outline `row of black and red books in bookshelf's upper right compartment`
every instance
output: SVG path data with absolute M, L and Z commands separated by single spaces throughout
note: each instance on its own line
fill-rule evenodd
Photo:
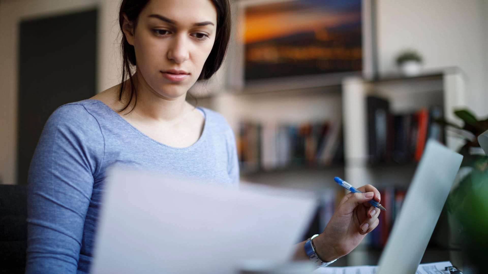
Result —
M 368 149 L 371 163 L 418 162 L 427 139 L 445 143 L 444 126 L 436 122 L 443 117 L 441 106 L 432 105 L 410 113 L 391 113 L 384 98 L 366 98 Z

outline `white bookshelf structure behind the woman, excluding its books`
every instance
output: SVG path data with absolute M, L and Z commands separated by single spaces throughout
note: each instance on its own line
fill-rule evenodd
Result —
M 321 200 L 309 234 L 321 232 L 326 220 L 339 201 L 334 176 L 341 176 L 353 186 L 372 184 L 381 191 L 402 192 L 416 169 L 416 161 L 370 161 L 368 145 L 368 105 L 370 96 L 384 98 L 392 114 L 414 114 L 431 105 L 440 106 L 443 116 L 456 122 L 453 111 L 465 106 L 465 76 L 460 69 L 446 68 L 426 72 L 417 77 L 386 76 L 367 80 L 350 76 L 338 83 L 287 90 L 236 91 L 225 86 L 221 73 L 210 83 L 196 86 L 191 92 L 198 98 L 198 105 L 214 109 L 224 115 L 239 137 L 242 122 L 255 124 L 296 124 L 335 121 L 342 126 L 344 142 L 343 161 L 327 165 L 275 166 L 241 170 L 241 179 L 266 185 L 313 191 Z M 446 135 L 448 147 L 456 150 L 455 137 Z M 342 190 L 339 190 L 341 192 Z M 343 192 L 344 194 L 344 192 Z M 390 195 L 391 197 L 391 195 Z M 393 197 L 392 203 L 395 203 Z M 310 236 L 310 235 L 305 235 Z M 378 236 L 378 235 L 377 235 Z M 366 238 L 353 252 L 336 262 L 336 265 L 377 264 L 381 245 Z M 385 241 L 385 240 L 384 240 Z M 428 247 L 424 262 L 447 258 L 448 251 Z M 431 259 L 429 259 L 431 258 Z

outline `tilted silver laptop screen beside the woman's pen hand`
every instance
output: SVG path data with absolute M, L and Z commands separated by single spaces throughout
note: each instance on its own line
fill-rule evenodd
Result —
M 381 254 L 378 274 L 417 271 L 462 160 L 463 156 L 437 141 L 427 141 Z

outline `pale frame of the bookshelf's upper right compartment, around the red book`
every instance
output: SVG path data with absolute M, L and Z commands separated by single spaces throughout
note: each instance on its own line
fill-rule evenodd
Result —
M 393 114 L 418 111 L 430 105 L 440 105 L 443 116 L 451 121 L 458 121 L 453 115 L 457 108 L 465 106 L 465 79 L 461 70 L 447 68 L 435 73 L 418 77 L 386 77 L 367 81 L 362 78 L 343 80 L 343 117 L 345 142 L 345 176 L 351 184 L 359 186 L 371 183 L 377 185 L 386 181 L 395 181 L 399 174 L 413 176 L 414 162 L 406 165 L 369 164 L 367 105 L 368 96 L 379 96 L 390 103 Z M 456 150 L 459 147 L 455 137 L 446 136 L 446 144 Z M 392 176 L 385 176 L 385 168 L 394 168 Z M 407 180 L 409 182 L 409 180 Z

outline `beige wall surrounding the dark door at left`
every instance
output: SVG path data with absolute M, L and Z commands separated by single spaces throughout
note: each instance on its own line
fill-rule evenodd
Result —
M 115 85 L 120 0 L 0 0 L 0 180 L 16 183 L 19 22 L 99 7 L 98 92 Z

